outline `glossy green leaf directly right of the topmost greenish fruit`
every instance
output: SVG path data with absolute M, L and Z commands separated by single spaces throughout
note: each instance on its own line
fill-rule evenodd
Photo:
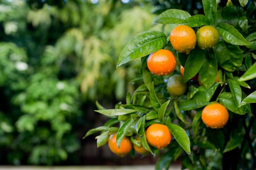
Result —
M 226 23 L 219 23 L 216 28 L 226 42 L 239 46 L 250 45 L 243 35 L 241 35 L 241 33 L 239 33 L 233 26 Z

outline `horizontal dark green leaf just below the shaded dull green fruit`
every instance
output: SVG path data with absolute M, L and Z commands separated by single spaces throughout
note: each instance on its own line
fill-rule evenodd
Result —
M 180 110 L 193 110 L 197 108 L 201 108 L 203 106 L 206 106 L 207 104 L 210 104 L 210 102 L 200 99 L 190 99 L 190 100 L 184 100 L 179 103 Z

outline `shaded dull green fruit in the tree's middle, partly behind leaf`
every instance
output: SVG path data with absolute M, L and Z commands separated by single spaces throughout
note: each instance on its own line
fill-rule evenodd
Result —
M 166 90 L 172 97 L 181 96 L 187 90 L 187 83 L 183 81 L 182 75 L 176 74 L 168 79 Z

